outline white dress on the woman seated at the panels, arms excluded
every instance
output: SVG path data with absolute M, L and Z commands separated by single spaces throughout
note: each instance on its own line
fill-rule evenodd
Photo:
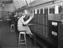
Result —
M 24 16 L 20 17 L 17 23 L 18 31 L 25 30 L 27 34 L 32 34 L 31 30 L 28 26 L 23 26 L 24 24 Z

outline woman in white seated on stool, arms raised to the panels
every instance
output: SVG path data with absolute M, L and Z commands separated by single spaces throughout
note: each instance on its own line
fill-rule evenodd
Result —
M 26 18 L 26 17 L 29 17 L 29 18 L 27 20 L 24 20 L 24 18 Z M 32 32 L 27 24 L 33 19 L 33 17 L 34 17 L 33 13 L 30 13 L 29 11 L 25 10 L 22 13 L 22 16 L 18 19 L 18 24 L 17 24 L 18 31 L 25 30 L 26 34 L 32 35 Z M 23 25 L 25 25 L 25 26 L 23 26 Z

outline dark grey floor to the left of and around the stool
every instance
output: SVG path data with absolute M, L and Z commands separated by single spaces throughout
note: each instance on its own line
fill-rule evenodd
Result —
M 18 48 L 16 32 L 10 32 L 10 25 L 7 22 L 0 22 L 0 48 Z M 19 48 L 39 48 L 27 37 L 27 44 L 19 45 Z

